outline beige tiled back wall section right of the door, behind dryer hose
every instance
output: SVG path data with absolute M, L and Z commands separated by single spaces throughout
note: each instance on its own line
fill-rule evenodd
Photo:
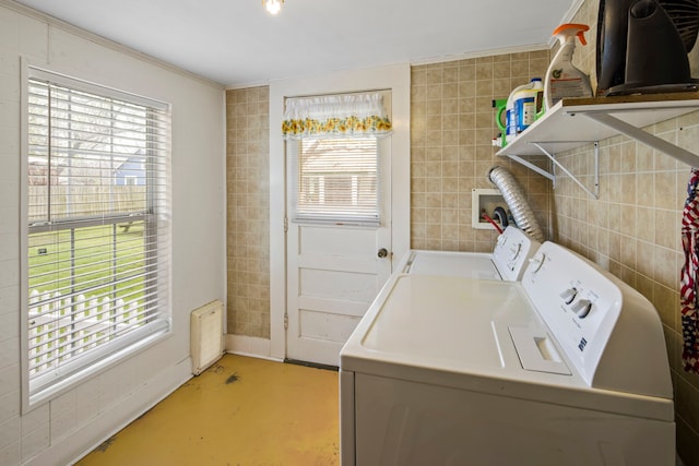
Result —
M 544 231 L 550 183 L 497 158 L 493 100 L 544 76 L 548 50 L 413 67 L 411 76 L 411 241 L 414 249 L 491 251 L 495 230 L 471 226 L 473 189 L 495 188 L 487 171 L 509 168 Z

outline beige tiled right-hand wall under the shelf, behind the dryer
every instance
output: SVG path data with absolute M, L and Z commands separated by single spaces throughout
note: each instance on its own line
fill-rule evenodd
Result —
M 591 26 L 588 46 L 577 48 L 573 60 L 591 73 L 593 86 L 597 9 L 596 0 L 588 0 L 572 21 Z M 645 130 L 695 153 L 699 147 L 699 112 Z M 585 146 L 559 160 L 591 187 L 593 154 Z M 642 143 L 615 136 L 600 144 L 600 199 L 566 178 L 553 199 L 555 240 L 633 286 L 661 315 L 675 392 L 677 450 L 686 466 L 699 465 L 699 375 L 686 373 L 680 361 L 679 227 L 689 170 Z

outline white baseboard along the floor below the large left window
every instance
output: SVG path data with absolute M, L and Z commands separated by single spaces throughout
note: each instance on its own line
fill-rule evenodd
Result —
M 100 413 L 93 421 L 63 440 L 51 444 L 24 465 L 74 464 L 191 378 L 192 361 L 190 358 L 186 358 L 176 366 L 144 381 L 139 390 L 131 393 L 131 396 Z

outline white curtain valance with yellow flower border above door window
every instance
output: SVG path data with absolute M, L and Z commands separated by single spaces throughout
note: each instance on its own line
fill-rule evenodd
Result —
M 286 99 L 282 136 L 286 140 L 319 136 L 386 135 L 391 120 L 378 92 Z

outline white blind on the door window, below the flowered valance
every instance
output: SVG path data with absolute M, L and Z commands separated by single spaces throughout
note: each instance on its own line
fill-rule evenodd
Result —
M 293 222 L 379 225 L 375 136 L 303 139 L 287 144 Z

